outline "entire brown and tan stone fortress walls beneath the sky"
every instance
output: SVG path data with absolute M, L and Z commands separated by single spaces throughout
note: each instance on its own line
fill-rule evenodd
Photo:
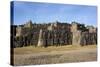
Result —
M 11 26 L 12 47 L 97 44 L 97 28 L 77 22 L 36 24 L 32 21 Z

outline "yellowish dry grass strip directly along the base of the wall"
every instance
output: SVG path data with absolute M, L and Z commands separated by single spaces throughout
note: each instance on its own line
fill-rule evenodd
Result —
M 70 51 L 70 50 L 81 50 L 81 49 L 88 49 L 88 48 L 96 48 L 96 45 L 88 45 L 88 46 L 49 46 L 47 48 L 44 47 L 34 47 L 34 46 L 27 46 L 21 48 L 14 48 L 14 54 L 34 54 L 39 52 L 52 52 L 52 51 Z

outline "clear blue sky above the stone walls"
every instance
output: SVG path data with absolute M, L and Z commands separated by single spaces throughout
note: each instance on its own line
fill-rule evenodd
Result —
M 14 1 L 14 24 L 24 24 L 29 20 L 36 23 L 76 21 L 97 26 L 97 7 L 71 4 L 51 4 Z

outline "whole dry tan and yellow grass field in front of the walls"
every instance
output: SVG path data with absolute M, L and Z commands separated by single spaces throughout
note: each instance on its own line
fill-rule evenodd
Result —
M 96 45 L 14 48 L 14 65 L 56 64 L 96 60 Z

